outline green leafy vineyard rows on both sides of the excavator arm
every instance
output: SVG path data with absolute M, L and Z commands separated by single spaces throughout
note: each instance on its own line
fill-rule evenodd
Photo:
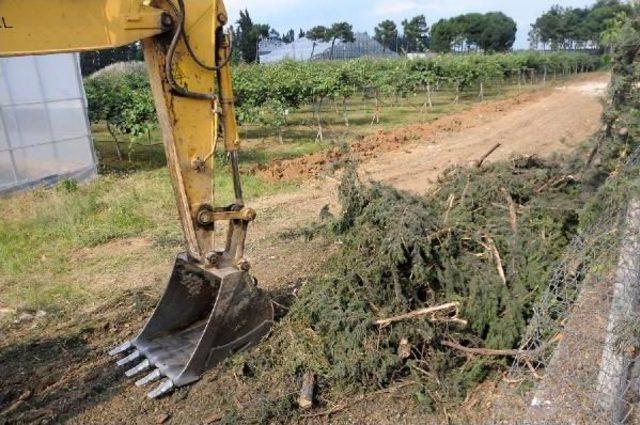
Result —
M 326 28 L 318 31 L 332 33 Z M 286 124 L 287 113 L 326 99 L 348 100 L 358 95 L 409 97 L 424 92 L 427 85 L 464 90 L 480 82 L 518 77 L 526 71 L 567 74 L 593 71 L 600 66 L 597 56 L 566 52 L 441 55 L 416 61 L 285 61 L 270 66 L 236 66 L 233 83 L 241 123 L 281 128 Z M 151 91 L 141 70 L 98 74 L 87 78 L 85 85 L 92 122 L 107 122 L 134 137 L 144 136 L 156 126 Z

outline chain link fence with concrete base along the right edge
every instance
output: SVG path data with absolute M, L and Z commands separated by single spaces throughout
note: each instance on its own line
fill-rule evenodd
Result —
M 640 23 L 629 27 L 591 155 L 608 178 L 534 305 L 510 371 L 533 385 L 528 423 L 640 423 Z

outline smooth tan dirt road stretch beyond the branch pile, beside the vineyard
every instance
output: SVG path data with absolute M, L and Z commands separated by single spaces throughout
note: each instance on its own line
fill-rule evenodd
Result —
M 497 143 L 501 147 L 491 160 L 514 154 L 565 153 L 595 132 L 602 113 L 598 100 L 606 87 L 606 77 L 597 78 L 547 91 L 511 110 L 471 111 L 483 121 L 480 125 L 436 134 L 408 150 L 370 161 L 363 167 L 364 175 L 399 189 L 423 192 L 445 168 L 478 159 Z

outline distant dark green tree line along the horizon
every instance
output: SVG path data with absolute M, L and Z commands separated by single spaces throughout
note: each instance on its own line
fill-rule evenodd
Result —
M 598 0 L 585 8 L 553 6 L 533 24 L 529 33 L 531 46 L 552 50 L 606 48 L 612 44 L 631 8 L 621 0 Z M 329 58 L 333 58 L 337 42 L 355 41 L 353 25 L 346 21 L 306 30 L 289 29 L 281 34 L 268 24 L 254 22 L 246 9 L 240 12 L 232 30 L 235 63 L 259 62 L 260 43 L 267 39 L 291 43 L 296 38 L 306 37 L 315 43 L 330 43 Z M 431 27 L 427 17 L 421 14 L 404 19 L 400 25 L 385 19 L 374 28 L 373 38 L 383 50 L 401 55 L 427 51 L 494 53 L 512 49 L 517 30 L 516 22 L 502 12 L 467 13 L 441 19 Z M 141 58 L 139 44 L 83 53 L 83 75 L 90 75 L 114 62 Z

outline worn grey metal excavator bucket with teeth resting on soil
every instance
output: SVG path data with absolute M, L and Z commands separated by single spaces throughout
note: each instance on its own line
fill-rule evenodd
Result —
M 259 343 L 273 325 L 271 301 L 248 272 L 176 260 L 167 289 L 140 335 L 112 350 L 137 386 L 160 381 L 150 398 L 198 381 L 228 356 Z

